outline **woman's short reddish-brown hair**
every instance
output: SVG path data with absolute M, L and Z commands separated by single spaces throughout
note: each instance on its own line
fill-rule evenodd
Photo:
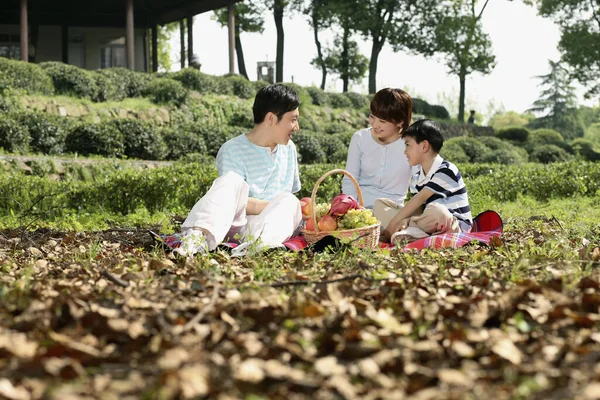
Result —
M 384 121 L 398 124 L 402 129 L 410 125 L 412 118 L 412 99 L 402 89 L 381 89 L 371 100 L 371 114 Z

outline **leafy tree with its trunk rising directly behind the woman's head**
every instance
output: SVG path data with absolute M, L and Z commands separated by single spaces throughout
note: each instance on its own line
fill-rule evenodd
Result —
M 386 43 L 394 51 L 433 52 L 436 4 L 439 0 L 348 0 L 356 29 L 370 39 L 369 93 L 377 91 L 377 64 Z

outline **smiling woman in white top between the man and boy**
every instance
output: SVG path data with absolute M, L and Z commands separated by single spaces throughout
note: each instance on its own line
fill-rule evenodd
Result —
M 404 90 L 385 88 L 371 100 L 370 128 L 355 132 L 350 141 L 346 170 L 358 181 L 365 207 L 373 208 L 382 229 L 395 215 L 390 209 L 404 204 L 411 167 L 404 155 L 402 130 L 412 117 L 412 99 Z M 342 192 L 358 198 L 354 184 L 344 177 Z M 378 201 L 376 201 L 379 199 Z

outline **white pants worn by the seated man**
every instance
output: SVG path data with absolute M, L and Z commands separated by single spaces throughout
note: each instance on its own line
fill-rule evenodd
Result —
M 185 235 L 190 229 L 204 230 L 209 250 L 236 235 L 242 242 L 260 239 L 261 246 L 281 247 L 302 220 L 300 201 L 291 193 L 282 193 L 259 215 L 246 215 L 248 192 L 248 184 L 234 172 L 215 179 L 192 207 L 181 225 L 182 232 Z

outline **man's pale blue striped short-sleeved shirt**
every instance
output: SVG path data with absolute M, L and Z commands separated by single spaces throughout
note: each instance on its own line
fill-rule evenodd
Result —
M 272 151 L 250 142 L 246 134 L 228 140 L 217 153 L 219 176 L 229 171 L 240 175 L 250 186 L 250 197 L 272 200 L 281 193 L 300 190 L 296 145 L 278 144 Z

